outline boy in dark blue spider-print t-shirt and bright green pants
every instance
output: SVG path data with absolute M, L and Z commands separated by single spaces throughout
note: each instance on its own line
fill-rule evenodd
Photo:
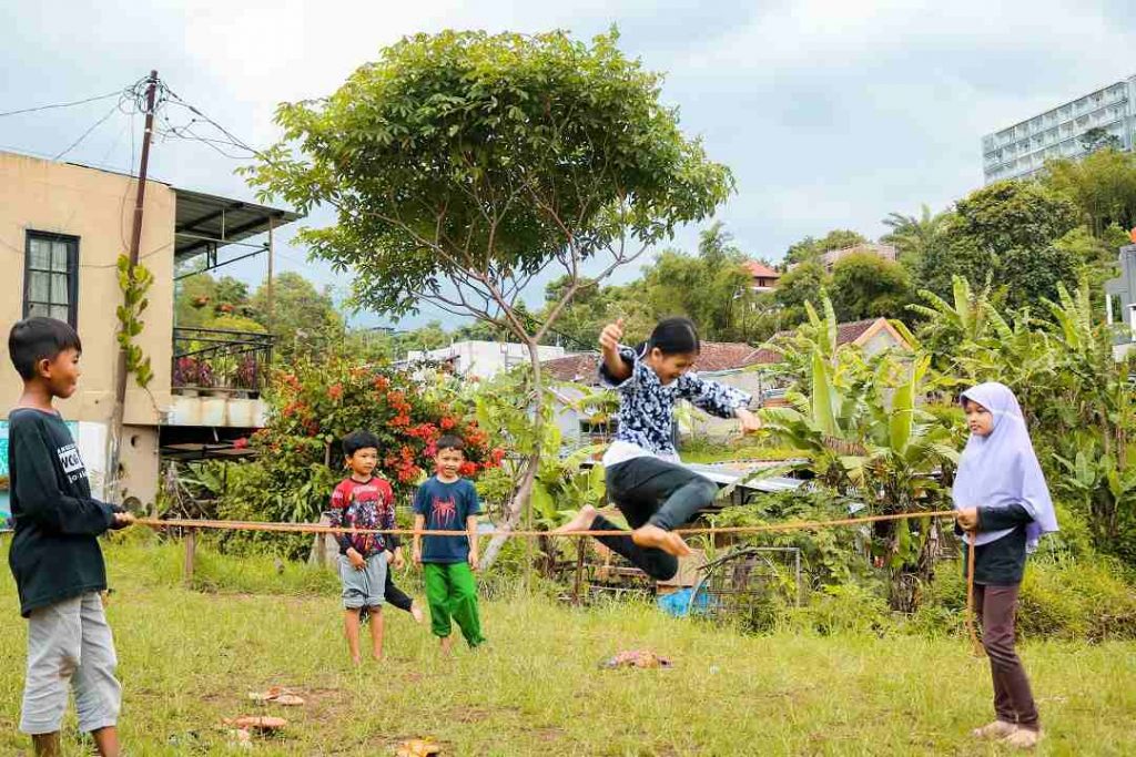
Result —
M 442 640 L 442 654 L 453 645 L 451 619 L 470 648 L 485 642 L 477 615 L 477 513 L 474 485 L 461 478 L 466 445 L 446 435 L 437 440 L 437 473 L 415 495 L 415 563 L 423 566 L 431 630 Z M 465 536 L 423 536 L 421 531 L 458 531 Z

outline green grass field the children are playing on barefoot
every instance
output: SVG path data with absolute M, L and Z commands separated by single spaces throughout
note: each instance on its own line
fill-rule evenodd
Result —
M 387 611 L 387 662 L 356 671 L 334 580 L 206 554 L 199 577 L 224 591 L 189 591 L 181 558 L 176 546 L 108 549 L 133 756 L 250 754 L 219 724 L 265 712 L 247 693 L 273 684 L 308 704 L 268 708 L 291 724 L 251 754 L 389 755 L 426 734 L 444 755 L 1008 754 L 968 737 L 989 720 L 991 684 L 961 638 L 744 637 L 642 605 L 571 609 L 532 597 L 484 603 L 490 647 L 451 661 L 426 628 Z M 3 755 L 30 754 L 16 733 L 25 623 L 15 595 L 3 571 Z M 642 647 L 675 667 L 596 667 Z M 1024 658 L 1046 729 L 1041 754 L 1136 754 L 1136 644 L 1027 642 Z M 68 723 L 68 754 L 81 754 L 74 715 Z

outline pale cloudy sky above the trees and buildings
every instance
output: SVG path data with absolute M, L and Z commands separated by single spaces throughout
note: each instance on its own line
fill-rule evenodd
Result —
M 891 211 L 938 210 L 982 184 L 983 134 L 1136 74 L 1136 16 L 1089 0 L 699 2 L 640 0 L 151 0 L 7 2 L 0 111 L 123 87 L 157 68 L 186 101 L 254 145 L 281 101 L 327 94 L 381 47 L 451 28 L 590 37 L 619 26 L 626 53 L 667 74 L 682 126 L 738 192 L 718 218 L 774 260 L 834 227 L 869 237 Z M 0 149 L 55 157 L 114 101 L 0 118 Z M 174 113 L 170 113 L 174 116 Z M 132 170 L 137 123 L 115 112 L 65 160 Z M 185 119 L 181 119 L 184 123 Z M 133 155 L 133 158 L 132 158 Z M 151 175 L 251 200 L 239 165 L 207 145 L 158 143 Z M 316 215 L 309 224 L 327 222 Z M 285 244 L 279 268 L 346 281 Z M 693 245 L 695 229 L 678 239 Z M 250 281 L 264 261 L 234 272 Z M 633 276 L 627 271 L 624 278 Z M 533 293 L 538 296 L 538 293 Z M 360 322 L 385 322 L 374 314 Z M 403 326 L 424 319 L 406 319 Z

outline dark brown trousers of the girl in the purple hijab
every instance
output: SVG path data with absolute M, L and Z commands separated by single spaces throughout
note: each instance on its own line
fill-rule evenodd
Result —
M 975 606 L 983 624 L 983 647 L 994 679 L 994 712 L 1000 721 L 1036 731 L 1041 727 L 1029 679 L 1013 648 L 1018 609 L 1017 586 L 975 586 Z

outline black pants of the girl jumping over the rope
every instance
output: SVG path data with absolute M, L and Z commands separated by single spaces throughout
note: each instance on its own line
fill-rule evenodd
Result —
M 635 457 L 612 465 L 605 478 L 608 499 L 616 503 L 633 529 L 650 523 L 670 531 L 718 496 L 718 486 L 710 479 L 658 457 Z M 600 515 L 592 528 L 608 531 L 618 527 Z M 653 547 L 643 548 L 629 535 L 596 539 L 655 580 L 666 581 L 678 572 L 677 557 Z

